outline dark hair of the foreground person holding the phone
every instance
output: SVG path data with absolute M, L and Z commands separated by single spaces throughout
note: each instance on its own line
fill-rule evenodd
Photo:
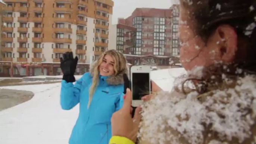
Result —
M 243 77 L 247 74 L 256 75 L 256 0 L 180 0 L 181 7 L 188 10 L 191 20 L 195 22 L 194 32 L 205 42 L 219 25 L 232 26 L 237 33 L 238 51 L 230 65 L 213 65 L 203 70 L 202 79 L 187 78 L 186 81 L 197 81 L 196 91 L 205 93 L 208 88 L 218 89 L 222 82 L 222 74 L 230 79 Z M 246 52 L 241 57 L 240 53 Z M 228 69 L 226 69 L 228 68 Z M 237 68 L 241 73 L 237 73 Z M 215 76 L 213 80 L 211 76 Z M 198 87 L 200 85 L 201 87 Z

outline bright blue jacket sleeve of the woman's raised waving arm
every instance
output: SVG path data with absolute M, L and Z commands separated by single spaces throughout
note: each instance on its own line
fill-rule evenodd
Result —
M 62 80 L 60 90 L 60 105 L 63 110 L 70 110 L 79 103 L 82 78 L 75 85 L 72 82 Z

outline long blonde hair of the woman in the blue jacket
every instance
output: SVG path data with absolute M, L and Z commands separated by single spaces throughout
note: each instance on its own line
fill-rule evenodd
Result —
M 105 51 L 102 55 L 100 55 L 99 59 L 97 60 L 97 62 L 95 64 L 96 66 L 93 68 L 93 81 L 92 81 L 92 85 L 91 85 L 90 90 L 89 90 L 89 101 L 88 101 L 88 106 L 87 106 L 88 108 L 90 107 L 91 100 L 93 98 L 95 90 L 99 85 L 99 79 L 100 79 L 100 77 L 99 77 L 99 72 L 100 72 L 99 71 L 99 66 L 103 62 L 103 58 L 106 55 L 111 56 L 115 61 L 115 64 L 114 64 L 115 73 L 112 76 L 116 76 L 120 72 L 125 71 L 127 62 L 126 62 L 126 59 L 125 59 L 125 57 L 122 53 L 120 53 L 116 50 L 108 50 L 108 51 Z

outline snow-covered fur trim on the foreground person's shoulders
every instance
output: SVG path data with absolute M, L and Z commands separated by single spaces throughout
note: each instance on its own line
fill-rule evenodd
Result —
M 256 116 L 256 78 L 239 78 L 235 87 L 203 95 L 172 91 L 157 94 L 143 105 L 138 137 L 151 144 L 211 144 L 251 136 Z M 198 99 L 202 96 L 202 99 Z M 205 130 L 210 131 L 205 134 Z M 211 135 L 216 132 L 217 135 Z M 205 136 L 207 135 L 207 137 Z

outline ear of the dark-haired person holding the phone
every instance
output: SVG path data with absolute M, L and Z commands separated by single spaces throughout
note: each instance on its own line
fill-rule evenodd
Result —
M 224 63 L 230 63 L 234 60 L 237 51 L 237 33 L 230 25 L 219 26 L 214 34 L 218 40 L 217 47 L 219 58 Z

